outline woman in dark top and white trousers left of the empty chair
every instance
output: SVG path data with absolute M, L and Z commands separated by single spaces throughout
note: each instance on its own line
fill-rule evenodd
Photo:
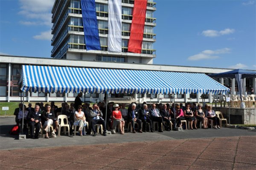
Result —
M 54 130 L 52 130 L 52 136 L 56 137 L 55 132 L 58 127 L 58 120 L 55 118 L 54 112 L 51 112 L 51 105 L 46 104 L 45 110 L 43 110 L 41 115 L 41 122 L 45 131 L 45 138 L 49 139 L 48 133 L 50 132 L 50 126 L 53 125 Z

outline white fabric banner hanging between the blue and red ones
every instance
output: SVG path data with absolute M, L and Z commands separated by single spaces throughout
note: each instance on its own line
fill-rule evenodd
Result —
M 122 52 L 121 0 L 108 0 L 108 51 Z

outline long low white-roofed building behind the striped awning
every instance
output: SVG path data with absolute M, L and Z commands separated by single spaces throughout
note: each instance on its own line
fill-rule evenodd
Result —
M 7 56 L 0 55 L 0 101 L 20 101 L 20 88 L 18 82 L 22 74 L 22 65 L 41 65 L 41 66 L 70 66 L 77 67 L 76 60 L 67 59 L 53 59 L 53 58 L 32 58 L 21 56 Z M 116 63 L 116 62 L 104 62 L 104 61 L 79 61 L 79 65 L 84 68 L 105 68 L 105 69 L 136 69 L 136 70 L 154 70 L 154 71 L 169 71 L 169 72 L 194 72 L 194 73 L 219 73 L 231 71 L 231 69 L 220 68 L 206 68 L 206 67 L 189 67 L 189 66 L 169 66 L 169 65 L 153 65 L 153 64 L 141 64 L 141 63 Z M 191 78 L 193 79 L 193 78 Z M 238 92 L 237 83 L 235 79 L 230 78 L 215 78 L 216 81 L 227 86 L 231 89 L 232 94 Z M 243 79 L 243 94 L 251 94 L 252 89 L 256 92 L 256 78 L 244 78 Z M 255 94 L 255 93 L 254 93 Z M 25 94 L 25 101 L 67 101 L 71 102 L 75 100 L 77 93 L 38 93 L 27 92 Z M 175 102 L 203 102 L 200 93 L 198 94 L 177 94 L 175 95 Z M 84 101 L 90 101 L 90 97 L 94 100 L 103 100 L 104 94 L 83 94 Z M 147 98 L 147 101 L 151 102 L 166 102 L 172 101 L 172 95 L 164 94 L 109 94 L 109 98 L 134 98 L 140 101 L 143 97 Z M 204 100 L 211 102 L 212 98 L 207 95 Z

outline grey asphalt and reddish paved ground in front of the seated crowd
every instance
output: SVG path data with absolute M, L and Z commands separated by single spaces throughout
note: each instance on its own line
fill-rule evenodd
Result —
M 0 118 L 0 169 L 255 170 L 256 132 L 221 128 L 17 140 Z

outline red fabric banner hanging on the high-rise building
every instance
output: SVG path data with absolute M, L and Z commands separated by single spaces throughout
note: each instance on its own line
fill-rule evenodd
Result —
M 128 52 L 141 53 L 147 0 L 134 0 Z

